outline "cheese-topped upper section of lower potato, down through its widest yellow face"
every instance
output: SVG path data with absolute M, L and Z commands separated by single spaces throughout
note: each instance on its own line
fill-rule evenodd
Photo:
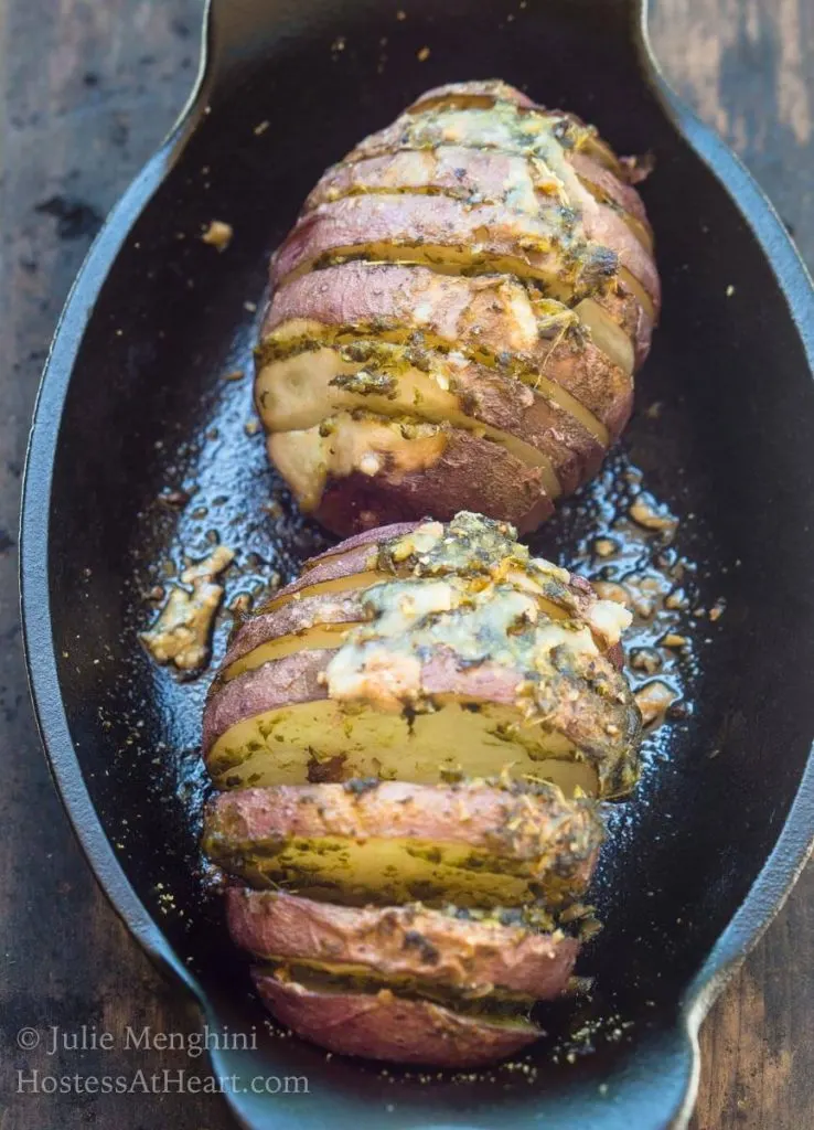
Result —
M 615 649 L 630 616 L 514 538 L 459 514 L 317 559 L 235 635 L 204 712 L 218 786 L 510 765 L 628 791 L 640 721 Z M 330 625 L 348 634 L 308 650 Z

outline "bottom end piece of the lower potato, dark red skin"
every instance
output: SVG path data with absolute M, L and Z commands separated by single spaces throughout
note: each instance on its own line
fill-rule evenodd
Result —
M 542 1033 L 467 1017 L 429 1001 L 379 993 L 314 992 L 255 972 L 266 1007 L 298 1036 L 341 1055 L 427 1067 L 475 1068 L 506 1059 Z

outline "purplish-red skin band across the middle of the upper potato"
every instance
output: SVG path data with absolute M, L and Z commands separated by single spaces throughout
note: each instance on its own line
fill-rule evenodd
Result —
M 566 333 L 553 341 L 520 324 L 513 304 L 523 287 L 505 276 L 439 276 L 421 267 L 342 263 L 294 279 L 277 292 L 263 337 L 283 323 L 393 324 L 435 334 L 463 349 L 520 359 L 560 384 L 619 436 L 632 408 L 631 377 L 590 341 Z M 459 507 L 458 507 L 459 508 Z

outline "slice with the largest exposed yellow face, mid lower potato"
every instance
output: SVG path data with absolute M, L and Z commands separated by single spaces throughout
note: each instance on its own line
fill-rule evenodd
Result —
M 563 679 L 545 724 L 535 723 L 517 705 L 516 672 L 461 667 L 456 679 L 455 661 L 439 654 L 424 671 L 434 679 L 431 711 L 379 710 L 329 697 L 326 670 L 335 654 L 289 654 L 216 690 L 204 714 L 204 748 L 218 788 L 356 776 L 435 783 L 505 766 L 518 777 L 552 780 L 569 794 L 618 796 L 634 783 L 639 720 L 629 696 L 605 702 Z

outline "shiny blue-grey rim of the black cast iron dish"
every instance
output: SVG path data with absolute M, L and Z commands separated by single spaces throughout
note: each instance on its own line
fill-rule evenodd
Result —
M 85 330 L 121 246 L 205 113 L 217 56 L 211 18 L 215 2 L 208 0 L 205 6 L 200 68 L 190 98 L 167 139 L 110 212 L 60 315 L 28 437 L 19 539 L 20 609 L 28 687 L 40 739 L 73 834 L 97 883 L 128 930 L 148 956 L 161 968 L 172 971 L 208 1019 L 211 1019 L 211 1006 L 204 988 L 177 956 L 137 895 L 85 783 L 62 703 L 52 634 L 47 550 L 60 423 Z M 645 81 L 673 127 L 707 165 L 749 225 L 788 303 L 808 368 L 814 373 L 814 284 L 799 253 L 773 206 L 745 166 L 667 84 L 649 41 L 649 0 L 624 2 L 630 7 Z M 692 1067 L 683 1101 L 669 1112 L 671 1127 L 685 1127 L 694 1105 L 700 1074 L 698 1033 L 703 1018 L 771 924 L 813 852 L 814 746 L 774 846 L 680 1001 L 679 1024 L 691 1048 Z M 238 1104 L 229 1094 L 226 1097 L 239 1116 Z

